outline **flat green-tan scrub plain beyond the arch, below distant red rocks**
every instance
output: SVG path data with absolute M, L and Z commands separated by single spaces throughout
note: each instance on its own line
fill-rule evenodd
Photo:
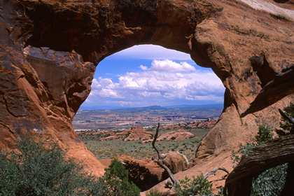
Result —
M 209 130 L 198 128 L 188 129 L 187 131 L 193 133 L 195 137 L 183 141 L 157 141 L 157 146 L 163 153 L 179 151 L 191 161 L 195 157 L 195 149 Z M 152 129 L 148 131 L 155 133 L 155 130 Z M 170 131 L 172 130 L 160 130 L 160 134 L 165 134 Z M 140 160 L 142 158 L 151 158 L 155 155 L 151 143 L 142 144 L 142 141 L 123 141 L 123 138 L 111 141 L 99 141 L 101 137 L 105 136 L 94 134 L 94 131 L 89 132 L 92 132 L 92 134 L 79 135 L 79 138 L 99 160 L 111 159 L 119 155 L 129 155 Z

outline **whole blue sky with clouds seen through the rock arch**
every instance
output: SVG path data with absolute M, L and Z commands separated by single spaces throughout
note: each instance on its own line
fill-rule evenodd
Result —
M 223 104 L 225 88 L 211 69 L 190 55 L 158 45 L 135 45 L 97 65 L 82 106 Z

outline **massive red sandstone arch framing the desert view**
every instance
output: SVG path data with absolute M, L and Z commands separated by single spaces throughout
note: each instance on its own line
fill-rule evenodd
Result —
M 262 120 L 276 125 L 277 108 L 293 101 L 290 77 L 281 83 L 284 93 L 265 94 L 265 109 L 240 118 L 293 66 L 293 10 L 293 0 L 0 1 L 0 146 L 12 148 L 15 133 L 33 130 L 102 174 L 71 120 L 90 92 L 94 65 L 152 43 L 189 53 L 223 81 L 225 109 L 197 148 L 195 165 L 214 160 L 250 141 Z

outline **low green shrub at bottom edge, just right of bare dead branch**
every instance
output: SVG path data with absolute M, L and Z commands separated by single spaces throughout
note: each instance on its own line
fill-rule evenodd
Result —
M 192 195 L 213 195 L 212 183 L 204 179 L 202 175 L 193 176 L 193 179 L 185 177 L 180 181 L 180 185 L 176 186 L 175 192 L 177 196 L 192 196 Z

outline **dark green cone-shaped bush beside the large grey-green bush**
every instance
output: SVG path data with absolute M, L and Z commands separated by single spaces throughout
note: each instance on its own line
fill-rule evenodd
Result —
M 140 195 L 139 188 L 133 182 L 129 181 L 129 172 L 117 158 L 111 160 L 111 165 L 109 165 L 109 168 L 105 169 L 105 171 L 103 180 L 107 184 L 108 191 L 105 192 L 104 195 Z

